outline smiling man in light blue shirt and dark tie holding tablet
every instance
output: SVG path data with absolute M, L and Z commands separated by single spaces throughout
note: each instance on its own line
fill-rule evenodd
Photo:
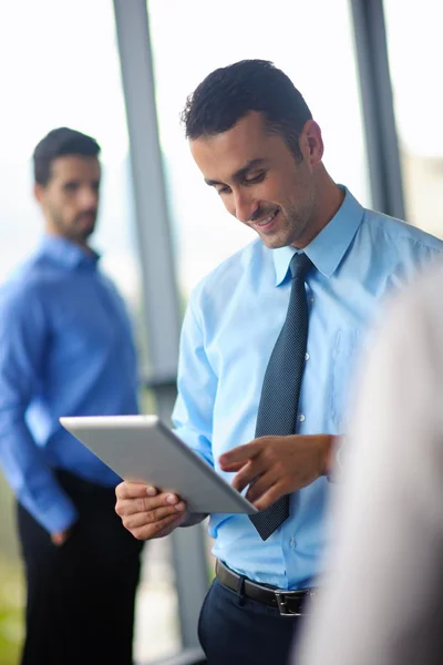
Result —
M 199 638 L 210 665 L 284 665 L 322 572 L 364 331 L 443 244 L 332 181 L 319 125 L 269 62 L 216 70 L 183 119 L 206 184 L 259 235 L 195 288 L 183 325 L 176 433 L 260 511 L 210 518 L 217 577 Z M 141 540 L 203 519 L 155 488 L 124 482 L 116 494 Z

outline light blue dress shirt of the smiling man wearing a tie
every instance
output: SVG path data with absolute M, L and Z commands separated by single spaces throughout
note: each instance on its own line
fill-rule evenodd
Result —
M 296 249 L 257 239 L 193 291 L 184 320 L 176 432 L 220 475 L 218 458 L 255 437 L 267 362 L 285 321 Z M 344 201 L 306 247 L 309 335 L 297 433 L 343 433 L 352 371 L 380 299 L 442 255 L 443 243 Z M 235 571 L 280 589 L 315 583 L 326 544 L 326 478 L 291 495 L 290 518 L 262 542 L 246 515 L 213 514 L 213 553 Z M 374 488 L 374 491 L 377 489 Z M 364 519 L 364 515 L 362 515 Z

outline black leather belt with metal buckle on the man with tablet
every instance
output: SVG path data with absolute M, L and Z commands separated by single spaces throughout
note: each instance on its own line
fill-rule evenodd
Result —
M 223 561 L 217 559 L 215 563 L 215 573 L 218 580 L 237 593 L 240 592 L 240 575 L 231 571 Z M 300 589 L 298 591 L 280 590 L 272 586 L 265 586 L 244 579 L 243 593 L 247 598 L 258 601 L 269 607 L 279 610 L 281 616 L 302 616 L 306 614 L 303 605 L 306 601 L 316 594 L 316 589 Z

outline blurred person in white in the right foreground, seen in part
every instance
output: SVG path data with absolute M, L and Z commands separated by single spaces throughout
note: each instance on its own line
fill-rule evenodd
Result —
M 443 663 L 443 268 L 371 351 L 333 507 L 332 570 L 297 665 Z

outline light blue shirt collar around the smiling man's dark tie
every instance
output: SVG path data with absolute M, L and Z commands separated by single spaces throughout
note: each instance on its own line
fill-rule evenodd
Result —
M 360 223 L 364 208 L 352 196 L 347 187 L 341 186 L 344 198 L 332 219 L 320 231 L 303 252 L 313 265 L 326 277 L 331 277 L 343 258 Z M 279 286 L 289 269 L 292 256 L 298 252 L 291 245 L 272 249 L 274 266 L 276 269 L 276 286 Z

